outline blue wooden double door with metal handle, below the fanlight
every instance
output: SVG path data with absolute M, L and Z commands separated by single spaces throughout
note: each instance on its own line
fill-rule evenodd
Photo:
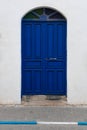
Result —
M 66 94 L 66 22 L 22 24 L 22 95 Z

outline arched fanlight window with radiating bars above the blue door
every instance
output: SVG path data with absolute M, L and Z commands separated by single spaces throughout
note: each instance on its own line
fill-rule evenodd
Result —
M 58 11 L 50 8 L 38 8 L 28 12 L 23 19 L 37 20 L 37 21 L 59 21 L 66 20 L 66 18 Z

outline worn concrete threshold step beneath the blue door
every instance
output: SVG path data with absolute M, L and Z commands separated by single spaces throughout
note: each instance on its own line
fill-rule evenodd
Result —
M 30 95 L 22 97 L 22 105 L 28 106 L 65 106 L 66 96 L 58 95 Z

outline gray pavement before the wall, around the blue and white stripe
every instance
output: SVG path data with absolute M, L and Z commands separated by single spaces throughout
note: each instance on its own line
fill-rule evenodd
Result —
M 0 106 L 0 120 L 87 121 L 87 106 Z M 0 130 L 87 130 L 87 126 L 0 125 Z

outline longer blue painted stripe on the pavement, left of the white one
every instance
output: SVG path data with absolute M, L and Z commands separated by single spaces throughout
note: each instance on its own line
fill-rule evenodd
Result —
M 0 125 L 36 125 L 36 121 L 0 121 Z

